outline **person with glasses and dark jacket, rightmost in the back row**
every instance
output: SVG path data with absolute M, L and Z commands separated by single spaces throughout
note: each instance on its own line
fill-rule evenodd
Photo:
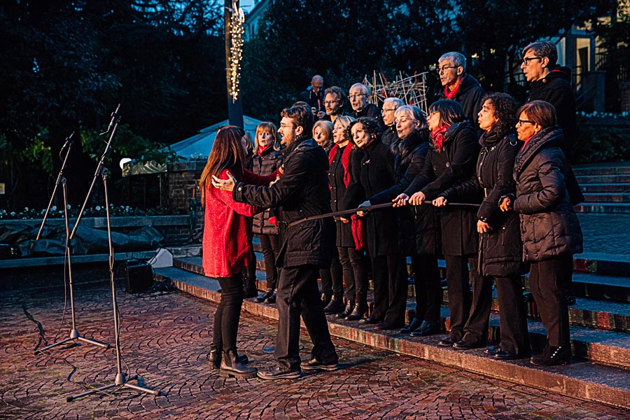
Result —
M 564 132 L 562 151 L 570 160 L 577 135 L 575 98 L 571 88 L 571 69 L 556 64 L 556 45 L 549 41 L 534 42 L 523 48 L 521 69 L 530 85 L 527 102 L 545 101 L 556 109 L 558 125 Z

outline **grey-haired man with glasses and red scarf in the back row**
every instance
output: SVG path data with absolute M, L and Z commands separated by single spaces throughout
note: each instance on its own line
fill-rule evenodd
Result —
M 466 118 L 481 134 L 477 114 L 484 104 L 486 91 L 479 85 L 479 80 L 466 73 L 466 57 L 461 52 L 447 52 L 437 60 L 437 74 L 444 86 L 440 99 L 459 102 Z

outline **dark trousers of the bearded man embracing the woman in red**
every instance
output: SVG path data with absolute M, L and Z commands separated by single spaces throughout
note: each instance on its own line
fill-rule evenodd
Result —
M 314 265 L 283 267 L 280 270 L 276 295 L 278 337 L 274 356 L 286 369 L 300 369 L 300 315 L 313 342 L 311 356 L 322 363 L 337 363 L 339 360 L 323 313 L 317 288 L 318 273 L 319 269 Z

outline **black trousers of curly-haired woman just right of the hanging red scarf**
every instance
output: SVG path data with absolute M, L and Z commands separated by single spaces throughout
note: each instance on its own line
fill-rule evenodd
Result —
M 402 326 L 407 309 L 407 269 L 401 253 L 372 257 L 374 311 L 372 317 Z

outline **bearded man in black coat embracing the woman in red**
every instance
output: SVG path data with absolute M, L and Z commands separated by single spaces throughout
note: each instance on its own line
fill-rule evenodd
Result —
M 319 269 L 330 267 L 335 226 L 331 218 L 290 225 L 330 212 L 328 156 L 309 136 L 312 117 L 306 109 L 283 109 L 281 117 L 278 132 L 286 149 L 284 173 L 278 181 L 269 187 L 245 185 L 233 177 L 215 177 L 213 181 L 216 188 L 232 191 L 237 202 L 263 209 L 280 207 L 281 246 L 276 265 L 282 270 L 276 295 L 279 320 L 274 354 L 277 365 L 259 370 L 262 379 L 295 379 L 301 370 L 335 370 L 339 359 L 317 286 Z M 301 365 L 300 314 L 313 342 L 311 360 Z

